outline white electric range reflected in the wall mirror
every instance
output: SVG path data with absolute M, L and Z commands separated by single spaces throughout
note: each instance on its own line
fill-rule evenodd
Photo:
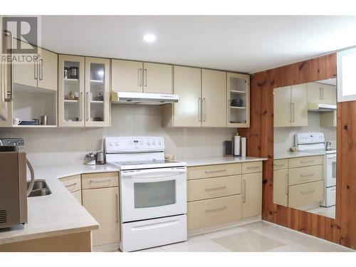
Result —
M 324 152 L 324 181 L 325 194 L 320 206 L 335 206 L 336 204 L 336 150 L 325 149 L 323 132 L 306 132 L 295 135 L 295 147 L 299 151 Z

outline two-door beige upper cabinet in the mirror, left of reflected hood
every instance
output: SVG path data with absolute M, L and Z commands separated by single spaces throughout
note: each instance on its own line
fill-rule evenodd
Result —
M 307 85 L 273 90 L 274 127 L 308 126 Z

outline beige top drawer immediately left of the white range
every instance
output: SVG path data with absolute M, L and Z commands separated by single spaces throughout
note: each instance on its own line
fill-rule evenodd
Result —
M 93 189 L 102 187 L 118 187 L 118 172 L 98 172 L 82 174 L 83 189 Z

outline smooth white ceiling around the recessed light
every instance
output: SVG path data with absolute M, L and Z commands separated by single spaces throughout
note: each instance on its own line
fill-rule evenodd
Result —
M 355 32 L 356 16 L 42 16 L 42 46 L 58 53 L 244 73 L 355 46 Z

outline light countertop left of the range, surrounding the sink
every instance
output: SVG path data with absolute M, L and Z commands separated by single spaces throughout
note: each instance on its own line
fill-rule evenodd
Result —
M 28 198 L 28 224 L 11 231 L 0 229 L 0 244 L 48 236 L 92 231 L 99 224 L 68 192 L 58 178 L 92 172 L 115 172 L 107 165 L 34 167 L 35 178 L 45 179 L 52 194 Z

